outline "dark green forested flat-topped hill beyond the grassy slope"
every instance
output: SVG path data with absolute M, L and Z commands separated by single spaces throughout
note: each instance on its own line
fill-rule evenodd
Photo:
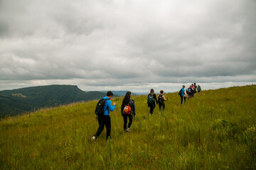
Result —
M 95 100 L 103 96 L 105 93 L 85 92 L 72 85 L 33 86 L 0 91 L 0 117 L 18 115 L 38 108 Z

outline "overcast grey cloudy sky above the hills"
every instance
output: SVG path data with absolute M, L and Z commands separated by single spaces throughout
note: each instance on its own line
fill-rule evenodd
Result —
M 0 90 L 256 82 L 255 0 L 0 0 Z

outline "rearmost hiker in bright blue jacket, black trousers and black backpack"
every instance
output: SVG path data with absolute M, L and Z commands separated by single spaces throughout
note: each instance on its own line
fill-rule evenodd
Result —
M 102 99 L 106 99 L 105 106 L 104 106 L 104 113 L 102 116 L 98 116 L 98 122 L 100 123 L 100 127 L 97 129 L 97 132 L 92 137 L 92 140 L 95 141 L 97 137 L 100 136 L 102 130 L 104 130 L 104 126 L 106 126 L 107 129 L 107 139 L 110 138 L 110 132 L 111 132 L 111 120 L 110 120 L 110 111 L 114 111 L 115 103 L 112 103 L 110 99 L 112 98 L 113 93 L 112 91 L 107 91 L 107 96 L 103 97 Z

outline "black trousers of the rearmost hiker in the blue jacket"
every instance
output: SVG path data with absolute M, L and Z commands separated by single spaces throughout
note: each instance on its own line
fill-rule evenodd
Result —
M 97 132 L 95 134 L 95 137 L 99 137 L 102 130 L 104 130 L 104 126 L 107 128 L 107 138 L 110 137 L 110 132 L 111 132 L 111 120 L 110 120 L 110 115 L 103 115 L 101 117 L 98 117 L 98 123 L 100 127 L 97 129 Z

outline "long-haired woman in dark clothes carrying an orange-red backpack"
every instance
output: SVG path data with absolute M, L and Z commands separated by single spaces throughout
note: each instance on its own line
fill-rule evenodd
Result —
M 132 119 L 136 117 L 135 103 L 134 100 L 131 98 L 131 91 L 127 91 L 123 98 L 121 106 L 121 115 L 124 118 L 124 131 L 129 132 L 129 128 L 132 125 Z M 129 118 L 128 127 L 127 118 Z

